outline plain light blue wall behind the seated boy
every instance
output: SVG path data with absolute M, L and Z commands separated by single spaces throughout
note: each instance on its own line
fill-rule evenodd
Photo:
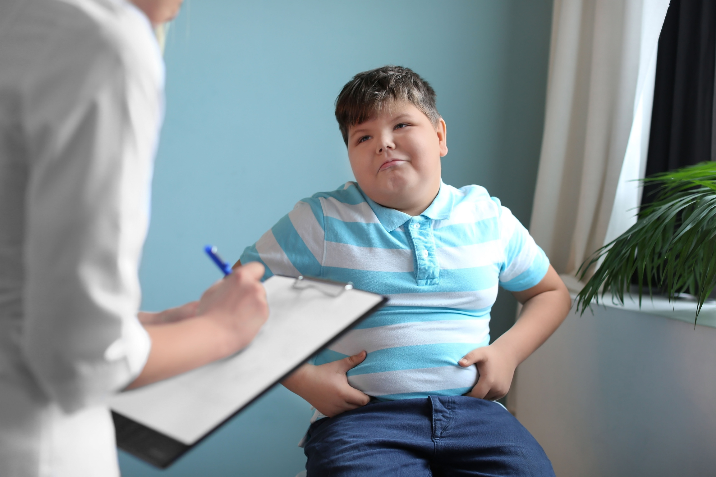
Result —
M 529 223 L 551 0 L 187 1 L 165 52 L 167 114 L 142 262 L 143 307 L 193 300 L 294 203 L 352 173 L 333 117 L 353 74 L 415 69 L 448 123 L 443 180 L 480 184 Z M 500 295 L 493 334 L 511 325 Z M 122 475 L 293 477 L 309 405 L 281 386 L 168 471 L 122 453 Z

